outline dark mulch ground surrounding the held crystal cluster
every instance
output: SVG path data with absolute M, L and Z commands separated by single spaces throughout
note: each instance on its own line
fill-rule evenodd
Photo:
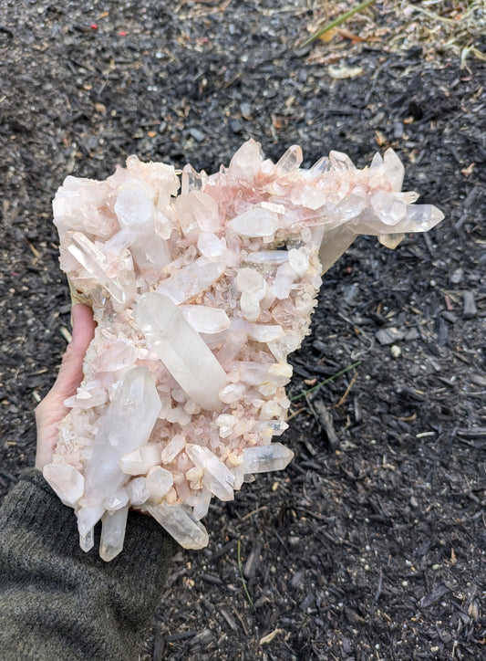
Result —
M 362 166 L 379 142 L 446 214 L 395 252 L 358 240 L 327 274 L 290 394 L 361 363 L 295 400 L 283 473 L 212 507 L 143 661 L 486 658 L 486 74 L 372 43 L 336 50 L 363 73 L 332 79 L 329 47 L 293 49 L 310 7 L 0 2 L 2 495 L 66 347 L 50 200 L 67 173 L 131 152 L 212 170 L 250 136 Z

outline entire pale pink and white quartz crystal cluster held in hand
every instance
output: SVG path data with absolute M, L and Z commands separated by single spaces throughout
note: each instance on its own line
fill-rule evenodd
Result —
M 287 355 L 308 332 L 321 275 L 358 234 L 395 247 L 442 218 L 401 193 L 388 150 L 357 169 L 331 152 L 309 169 L 245 142 L 208 176 L 130 156 L 106 181 L 67 177 L 54 201 L 61 267 L 98 328 L 66 401 L 45 477 L 88 551 L 123 547 L 130 507 L 181 545 L 208 542 L 213 496 L 293 456 L 282 435 Z M 180 190 L 181 188 L 181 190 Z

